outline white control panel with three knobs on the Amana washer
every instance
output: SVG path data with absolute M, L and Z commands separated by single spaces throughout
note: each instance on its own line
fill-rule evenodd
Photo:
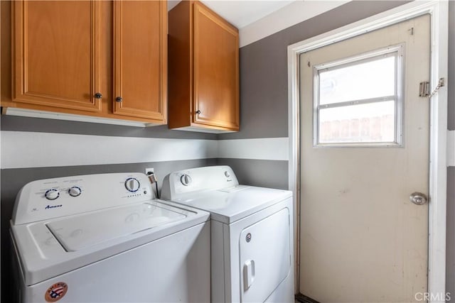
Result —
M 17 194 L 11 220 L 26 224 L 154 198 L 149 179 L 137 172 L 37 180 Z

